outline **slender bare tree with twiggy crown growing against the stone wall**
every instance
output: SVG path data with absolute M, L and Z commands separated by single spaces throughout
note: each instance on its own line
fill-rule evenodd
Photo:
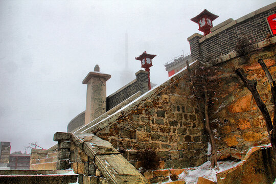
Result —
M 188 62 L 187 69 L 191 80 L 192 92 L 196 98 L 197 108 L 199 110 L 199 116 L 201 122 L 204 124 L 206 131 L 208 132 L 211 143 L 211 167 L 217 166 L 217 145 L 215 141 L 215 135 L 210 127 L 210 106 L 212 105 L 212 98 L 217 93 L 217 81 L 216 78 L 212 78 L 214 75 L 214 68 L 206 68 L 204 66 L 198 67 L 194 73 L 190 69 Z

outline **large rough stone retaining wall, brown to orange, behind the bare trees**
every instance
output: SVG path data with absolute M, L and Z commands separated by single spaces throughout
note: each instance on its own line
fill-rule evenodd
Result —
M 258 43 L 258 49 L 247 57 L 231 53 L 216 63 L 220 88 L 210 119 L 219 159 L 242 158 L 250 147 L 268 143 L 261 112 L 235 69 L 242 67 L 248 79 L 258 81 L 257 88 L 271 112 L 269 84 L 257 60 L 262 58 L 276 78 L 275 41 L 273 37 L 265 41 L 269 44 Z M 192 68 L 195 67 L 193 64 Z M 146 147 L 155 149 L 160 156 L 159 169 L 197 166 L 208 157 L 208 136 L 195 107 L 189 77 L 184 70 L 118 114 L 94 126 L 87 125 L 80 132 L 95 133 L 115 148 L 124 148 L 124 157 L 136 168 L 141 166 L 137 155 Z

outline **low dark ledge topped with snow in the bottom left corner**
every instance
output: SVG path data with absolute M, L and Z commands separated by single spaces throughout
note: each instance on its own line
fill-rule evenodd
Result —
M 0 170 L 0 183 L 59 184 L 76 183 L 78 175 L 72 170 Z

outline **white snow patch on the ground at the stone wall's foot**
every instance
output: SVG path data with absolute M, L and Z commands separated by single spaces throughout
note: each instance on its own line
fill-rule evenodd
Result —
M 217 173 L 233 168 L 236 165 L 238 165 L 238 163 L 235 161 L 232 161 L 232 162 L 221 161 L 221 162 L 218 162 L 217 168 L 211 168 L 211 162 L 208 161 L 198 167 L 186 168 L 181 174 L 178 175 L 179 176 L 178 180 L 185 180 L 186 184 L 196 184 L 198 177 L 201 176 L 216 182 Z M 172 182 L 172 180 L 170 179 L 169 181 L 163 182 L 163 183 L 168 183 L 168 182 Z

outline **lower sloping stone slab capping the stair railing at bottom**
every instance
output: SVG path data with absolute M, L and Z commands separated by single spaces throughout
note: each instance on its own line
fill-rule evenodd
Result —
M 97 155 L 95 157 L 96 166 L 102 171 L 107 181 L 117 183 L 148 183 L 147 179 L 141 175 L 128 161 L 120 154 Z

